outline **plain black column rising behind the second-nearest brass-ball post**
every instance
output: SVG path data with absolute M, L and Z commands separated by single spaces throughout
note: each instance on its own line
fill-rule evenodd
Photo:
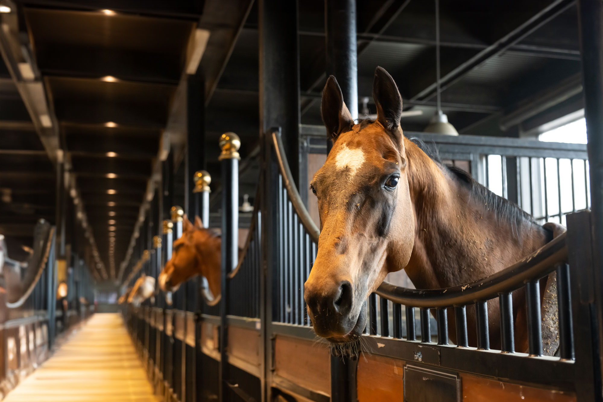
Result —
M 189 75 L 186 84 L 185 211 L 194 220 L 195 172 L 205 168 L 205 80 L 201 74 Z

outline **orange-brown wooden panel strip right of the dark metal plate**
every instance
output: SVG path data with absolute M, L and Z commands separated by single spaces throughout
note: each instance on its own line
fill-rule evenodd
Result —
M 463 402 L 575 402 L 573 392 L 504 383 L 461 374 Z

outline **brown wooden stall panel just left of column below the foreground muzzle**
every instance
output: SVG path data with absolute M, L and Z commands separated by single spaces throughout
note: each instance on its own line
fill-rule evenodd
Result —
M 330 395 L 330 370 L 329 348 L 323 343 L 280 335 L 274 340 L 274 374 L 303 388 Z

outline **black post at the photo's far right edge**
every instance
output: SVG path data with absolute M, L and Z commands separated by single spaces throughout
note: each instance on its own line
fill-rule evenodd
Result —
M 603 350 L 603 4 L 578 0 L 584 115 L 586 116 L 590 200 L 593 224 L 593 266 L 598 316 L 599 351 Z M 603 356 L 599 354 L 603 364 Z

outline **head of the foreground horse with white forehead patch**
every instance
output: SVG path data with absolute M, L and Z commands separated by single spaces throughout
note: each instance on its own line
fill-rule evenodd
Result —
M 316 333 L 335 342 L 364 330 L 364 301 L 387 275 L 386 261 L 405 266 L 414 240 L 402 97 L 382 68 L 373 98 L 377 119 L 355 124 L 335 77 L 323 91 L 321 114 L 333 148 L 311 183 L 321 233 L 305 299 Z

